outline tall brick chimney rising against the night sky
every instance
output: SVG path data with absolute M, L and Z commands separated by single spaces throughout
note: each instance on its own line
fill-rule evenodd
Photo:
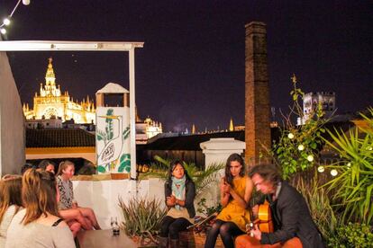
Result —
M 267 161 L 259 161 L 259 153 L 271 145 L 267 31 L 263 22 L 245 28 L 245 161 L 252 165 Z

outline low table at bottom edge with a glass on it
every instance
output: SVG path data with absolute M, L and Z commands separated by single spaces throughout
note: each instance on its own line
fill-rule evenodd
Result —
M 77 241 L 80 248 L 132 248 L 137 245 L 121 230 L 120 235 L 113 235 L 109 230 L 89 230 L 81 231 L 77 234 Z

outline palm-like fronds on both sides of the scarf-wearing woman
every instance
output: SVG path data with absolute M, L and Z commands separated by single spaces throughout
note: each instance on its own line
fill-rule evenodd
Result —
M 163 181 L 167 181 L 168 168 L 171 161 L 163 159 L 159 155 L 155 155 L 154 159 L 157 163 L 151 164 L 151 171 L 145 173 L 144 176 L 152 175 L 159 177 Z M 200 195 L 205 190 L 208 190 L 208 186 L 212 185 L 213 182 L 217 182 L 217 172 L 224 168 L 224 164 L 211 164 L 207 169 L 205 169 L 205 171 L 201 171 L 194 163 L 182 163 L 186 168 L 187 174 L 193 179 L 193 182 L 195 182 L 196 196 Z

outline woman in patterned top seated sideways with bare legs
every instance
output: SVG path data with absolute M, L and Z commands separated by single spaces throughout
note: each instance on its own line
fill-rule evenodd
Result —
M 59 190 L 59 215 L 66 221 L 76 220 L 86 230 L 101 229 L 98 225 L 95 212 L 92 208 L 82 208 L 77 206 L 74 199 L 73 185 L 70 179 L 74 176 L 75 166 L 70 161 L 59 164 L 57 173 L 57 188 Z

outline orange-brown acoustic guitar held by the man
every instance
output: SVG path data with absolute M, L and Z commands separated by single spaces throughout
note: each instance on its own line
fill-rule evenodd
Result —
M 255 225 L 258 225 L 260 232 L 273 233 L 272 213 L 269 208 L 268 201 L 260 204 L 258 208 L 258 218 L 246 225 L 247 230 L 252 230 Z

